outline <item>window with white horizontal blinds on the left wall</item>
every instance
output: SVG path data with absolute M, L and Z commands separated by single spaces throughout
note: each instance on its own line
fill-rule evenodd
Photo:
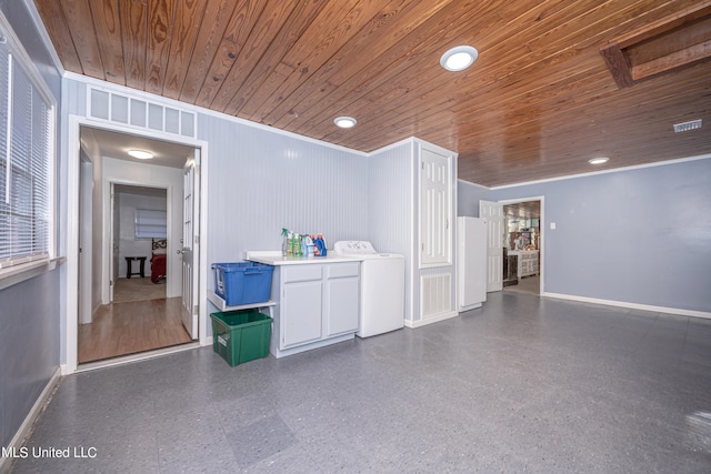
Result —
M 0 269 L 52 253 L 53 104 L 13 44 L 0 30 Z

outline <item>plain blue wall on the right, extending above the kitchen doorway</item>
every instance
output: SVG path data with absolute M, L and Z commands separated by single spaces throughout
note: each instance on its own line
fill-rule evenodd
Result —
M 544 291 L 711 312 L 711 159 L 481 192 L 544 196 Z M 463 214 L 462 214 L 463 215 Z M 551 230 L 554 222 L 557 229 Z

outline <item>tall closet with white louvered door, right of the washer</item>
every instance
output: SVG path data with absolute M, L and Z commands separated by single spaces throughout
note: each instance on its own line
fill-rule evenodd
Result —
M 369 233 L 405 255 L 405 325 L 455 316 L 457 153 L 412 138 L 369 160 Z

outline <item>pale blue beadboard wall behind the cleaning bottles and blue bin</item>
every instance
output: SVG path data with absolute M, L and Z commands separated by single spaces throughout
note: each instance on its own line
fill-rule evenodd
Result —
M 198 137 L 210 147 L 209 264 L 280 250 L 282 228 L 323 233 L 329 248 L 368 239 L 363 154 L 208 114 Z

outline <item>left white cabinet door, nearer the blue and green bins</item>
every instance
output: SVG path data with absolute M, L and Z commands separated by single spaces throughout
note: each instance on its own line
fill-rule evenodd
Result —
M 321 339 L 321 280 L 286 283 L 281 295 L 282 349 Z

